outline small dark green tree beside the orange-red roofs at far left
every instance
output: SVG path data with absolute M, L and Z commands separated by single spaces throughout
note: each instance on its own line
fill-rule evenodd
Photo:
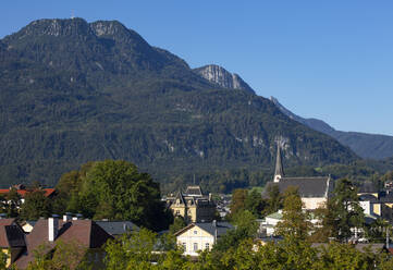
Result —
M 45 196 L 45 191 L 33 189 L 25 195 L 25 202 L 21 206 L 21 218 L 24 220 L 37 220 L 40 217 L 48 218 L 51 214 L 50 199 Z

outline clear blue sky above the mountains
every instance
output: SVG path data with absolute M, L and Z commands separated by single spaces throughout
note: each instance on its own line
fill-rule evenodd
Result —
M 192 68 L 342 131 L 393 135 L 393 1 L 2 1 L 0 37 L 37 19 L 118 20 Z

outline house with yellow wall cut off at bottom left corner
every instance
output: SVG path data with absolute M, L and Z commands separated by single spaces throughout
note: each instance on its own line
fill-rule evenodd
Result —
M 26 247 L 25 234 L 15 219 L 0 219 L 0 248 L 10 267 Z

